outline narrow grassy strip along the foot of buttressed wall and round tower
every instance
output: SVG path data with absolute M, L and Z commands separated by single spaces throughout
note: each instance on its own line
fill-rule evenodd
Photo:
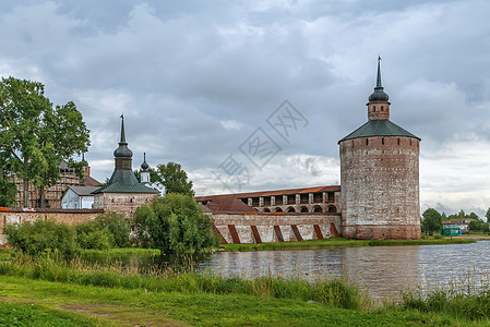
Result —
M 401 245 L 441 245 L 441 244 L 467 244 L 475 243 L 478 239 L 454 237 L 434 238 L 421 240 L 348 240 L 344 238 L 309 240 L 301 242 L 280 242 L 262 244 L 224 244 L 219 247 L 227 251 L 278 251 L 278 250 L 306 250 L 326 247 L 351 247 L 351 246 L 401 246 Z

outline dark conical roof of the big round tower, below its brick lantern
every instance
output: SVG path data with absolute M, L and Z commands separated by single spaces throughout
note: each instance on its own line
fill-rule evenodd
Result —
M 380 119 L 368 121 L 366 124 L 338 141 L 338 143 L 346 140 L 370 136 L 406 136 L 420 140 L 420 137 L 417 137 L 410 132 L 405 131 L 397 124 L 392 123 L 389 120 Z

